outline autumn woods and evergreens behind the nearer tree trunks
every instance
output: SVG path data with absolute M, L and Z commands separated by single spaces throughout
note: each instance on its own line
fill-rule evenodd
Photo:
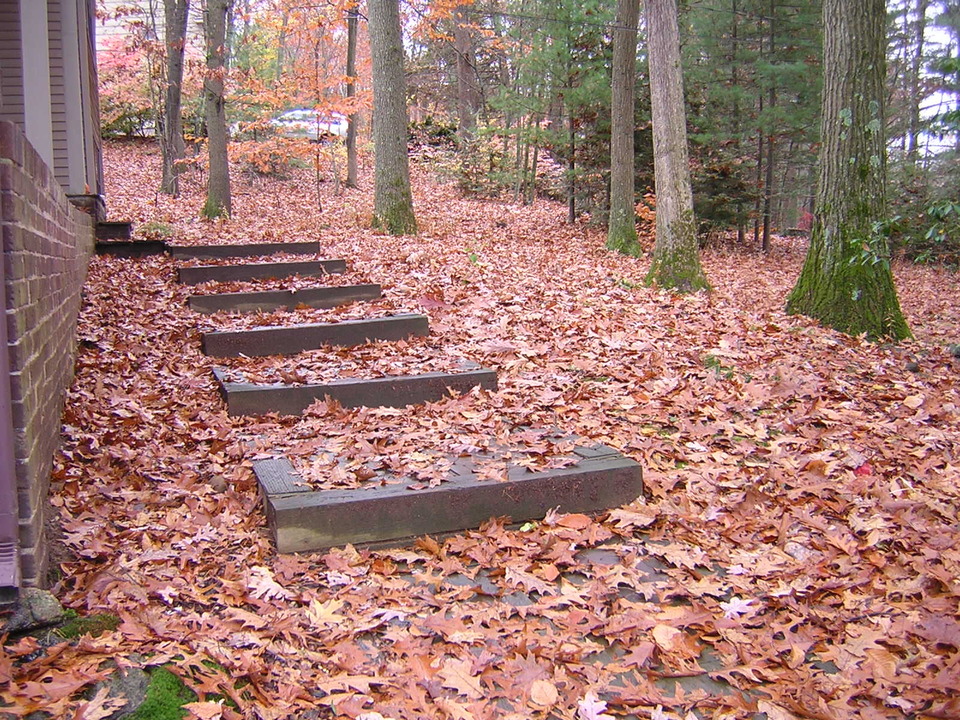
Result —
M 102 119 L 108 134 L 151 134 L 163 106 L 164 5 L 101 7 Z M 360 17 L 355 75 L 346 74 L 348 15 Z M 920 260 L 957 260 L 960 9 L 890 0 L 887 116 L 892 237 Z M 565 200 L 571 218 L 606 222 L 615 3 L 596 0 L 411 0 L 400 3 L 407 107 L 414 142 L 455 148 L 444 170 L 467 192 Z M 769 247 L 771 233 L 810 228 L 822 87 L 821 3 L 679 3 L 686 118 L 701 240 Z M 227 122 L 234 159 L 258 172 L 315 162 L 339 175 L 338 147 L 299 146 L 270 133 L 293 107 L 359 112 L 369 139 L 368 8 L 352 0 L 237 0 L 228 13 Z M 195 0 L 182 82 L 188 140 L 202 143 L 202 25 Z M 636 197 L 652 204 L 653 152 L 641 16 L 634 108 Z M 356 96 L 347 98 L 347 79 Z M 298 160 L 299 158 L 299 160 Z M 189 160 L 189 158 L 188 158 Z M 201 162 L 197 160 L 196 162 Z M 640 208 L 642 211 L 642 207 Z

